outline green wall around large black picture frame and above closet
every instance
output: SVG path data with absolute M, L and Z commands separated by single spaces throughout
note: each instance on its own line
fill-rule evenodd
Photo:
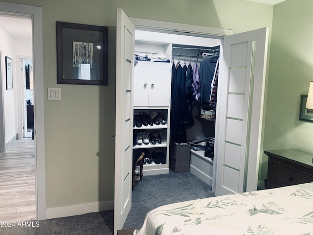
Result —
M 130 17 L 233 29 L 268 26 L 273 7 L 245 0 L 5 0 L 43 8 L 47 208 L 114 199 L 116 8 Z M 56 83 L 55 22 L 109 26 L 109 86 Z

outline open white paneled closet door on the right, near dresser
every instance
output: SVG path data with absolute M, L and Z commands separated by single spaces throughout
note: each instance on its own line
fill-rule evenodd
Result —
M 216 195 L 257 189 L 268 28 L 224 37 L 216 127 Z

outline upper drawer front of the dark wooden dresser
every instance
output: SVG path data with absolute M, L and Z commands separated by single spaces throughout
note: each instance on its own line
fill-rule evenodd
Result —
M 312 175 L 310 176 L 300 171 L 303 172 L 303 170 L 297 169 L 296 167 L 291 168 L 282 163 L 273 161 L 271 180 L 286 186 L 312 182 Z

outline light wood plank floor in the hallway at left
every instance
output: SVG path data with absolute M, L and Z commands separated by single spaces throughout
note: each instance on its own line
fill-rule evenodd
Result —
M 17 140 L 0 156 L 0 221 L 36 218 L 34 140 Z

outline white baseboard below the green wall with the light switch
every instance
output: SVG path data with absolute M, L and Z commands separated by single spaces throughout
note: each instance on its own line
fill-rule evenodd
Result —
M 93 202 L 87 204 L 47 208 L 45 210 L 46 218 L 61 218 L 90 212 L 110 211 L 114 209 L 114 200 L 104 202 Z

